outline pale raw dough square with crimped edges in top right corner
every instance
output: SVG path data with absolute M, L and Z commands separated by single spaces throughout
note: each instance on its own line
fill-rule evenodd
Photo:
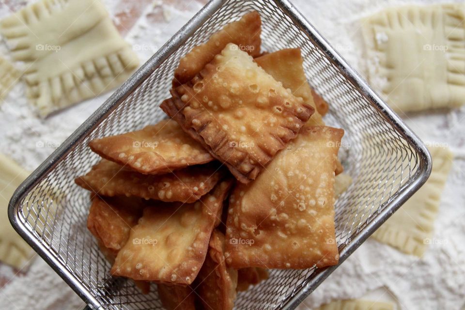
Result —
M 465 103 L 465 5 L 389 8 L 363 20 L 372 86 L 396 111 Z

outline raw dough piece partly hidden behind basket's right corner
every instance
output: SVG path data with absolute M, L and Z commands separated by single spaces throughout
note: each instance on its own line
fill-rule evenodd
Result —
M 446 148 L 431 147 L 429 151 L 433 170 L 428 181 L 372 234 L 380 242 L 420 257 L 431 243 L 434 220 L 453 158 Z

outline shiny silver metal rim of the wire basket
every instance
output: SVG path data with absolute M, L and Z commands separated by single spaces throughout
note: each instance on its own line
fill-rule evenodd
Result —
M 8 204 L 8 218 L 16 232 L 44 259 L 50 267 L 78 294 L 92 309 L 101 308 L 101 303 L 84 287 L 84 285 L 65 266 L 49 252 L 49 250 L 30 232 L 24 222 L 20 220 L 18 209 L 30 190 L 36 186 L 50 171 L 52 171 L 86 135 L 98 126 L 133 93 L 153 71 L 175 52 L 188 38 L 199 29 L 205 21 L 230 0 L 210 0 L 197 12 L 179 31 L 177 31 L 147 62 L 128 78 L 92 115 L 84 121 L 31 175 L 15 190 Z M 236 0 L 233 0 L 236 1 Z M 369 224 L 360 231 L 351 243 L 342 248 L 340 261 L 337 265 L 316 269 L 312 279 L 301 287 L 294 295 L 286 296 L 280 303 L 281 309 L 295 309 L 321 282 L 341 265 L 387 218 L 389 218 L 402 204 L 420 188 L 430 176 L 432 170 L 431 155 L 418 136 L 390 109 L 376 94 L 368 83 L 341 57 L 341 55 L 325 40 L 313 25 L 295 8 L 289 0 L 272 0 L 294 24 L 305 32 L 310 41 L 319 47 L 328 60 L 341 69 L 341 74 L 359 91 L 373 108 L 393 126 L 398 134 L 418 155 L 418 170 L 410 177 L 411 183 L 404 185 L 397 191 L 397 195 L 383 204 L 383 211 L 373 217 Z M 392 197 L 391 197 L 392 198 Z

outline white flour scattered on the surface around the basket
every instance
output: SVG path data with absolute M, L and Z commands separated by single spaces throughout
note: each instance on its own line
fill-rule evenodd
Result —
M 114 16 L 117 9 L 121 12 L 120 2 L 105 0 L 116 24 L 119 21 Z M 173 4 L 177 2 L 182 4 Z M 293 0 L 295 7 L 362 76 L 367 68 L 358 23 L 361 17 L 391 5 L 437 2 L 448 1 Z M 139 54 L 141 62 L 145 62 L 200 8 L 197 1 L 155 0 L 147 6 L 126 39 Z M 7 15 L 9 10 L 0 5 L 0 17 Z M 7 55 L 4 45 L 0 45 L 0 53 Z M 18 83 L 0 104 L 1 152 L 26 169 L 35 169 L 108 96 L 109 93 L 103 94 L 41 120 L 35 117 L 33 108 L 26 102 L 24 85 Z M 388 297 L 397 300 L 403 310 L 462 309 L 465 305 L 464 119 L 465 109 L 405 117 L 420 138 L 449 145 L 456 155 L 435 223 L 434 238 L 443 242 L 432 245 L 424 257 L 418 259 L 368 240 L 299 306 L 299 310 L 335 299 L 361 296 L 381 300 Z M 14 277 L 13 270 L 0 265 L 0 275 L 11 279 L 0 290 L 0 309 L 82 309 L 78 295 L 38 257 L 27 273 Z M 380 294 L 374 294 L 380 291 Z

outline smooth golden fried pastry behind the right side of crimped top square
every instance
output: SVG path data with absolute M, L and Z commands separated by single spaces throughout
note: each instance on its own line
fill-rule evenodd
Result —
M 312 89 L 305 77 L 304 60 L 300 55 L 300 48 L 281 49 L 277 52 L 257 57 L 255 58 L 255 62 L 266 73 L 281 82 L 284 88 L 289 88 L 294 96 L 301 97 L 306 104 L 315 109 L 308 124 L 316 126 L 325 124 L 315 106 Z

